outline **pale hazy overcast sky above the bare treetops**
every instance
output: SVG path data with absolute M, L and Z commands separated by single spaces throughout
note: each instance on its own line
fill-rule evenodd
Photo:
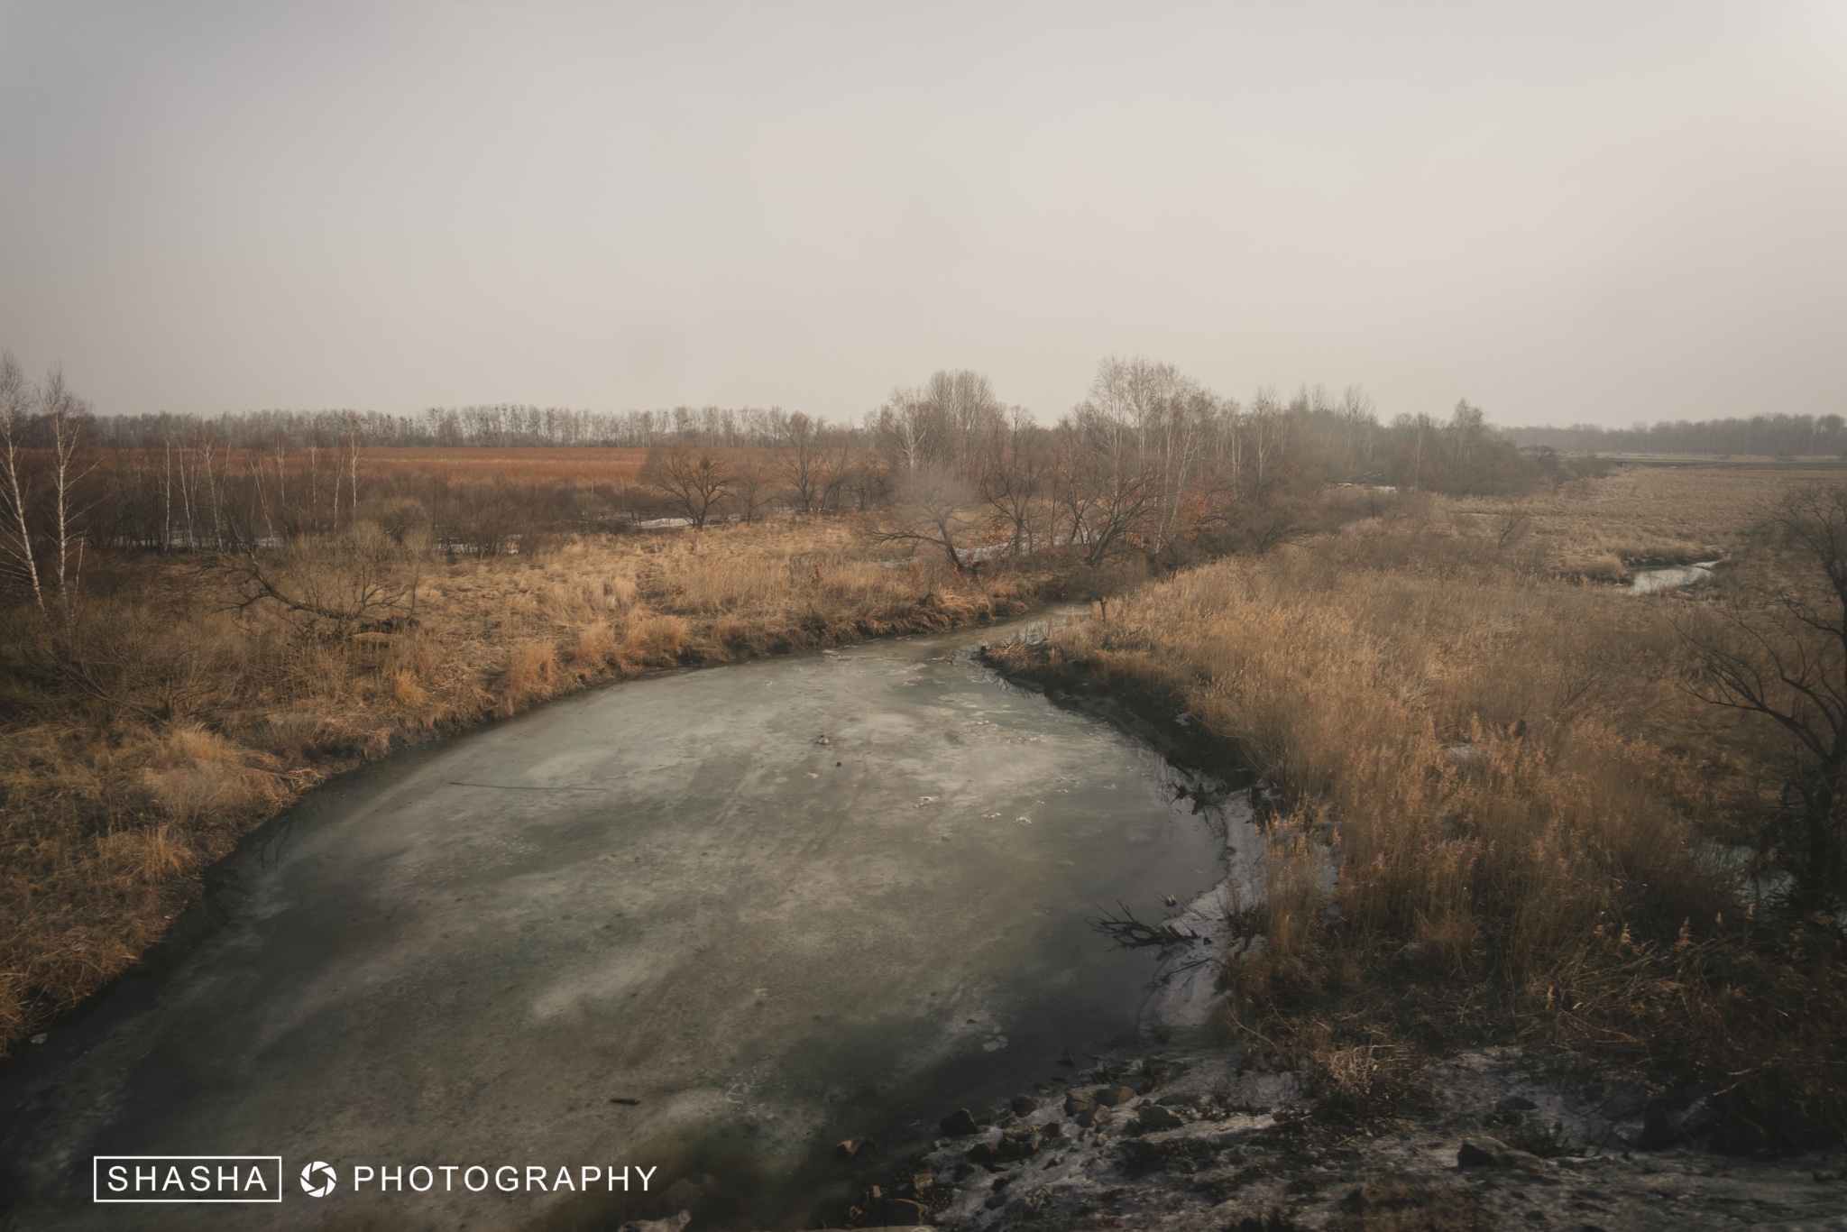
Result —
M 103 412 L 1049 421 L 1112 351 L 1847 412 L 1847 4 L 0 0 L 0 347 Z

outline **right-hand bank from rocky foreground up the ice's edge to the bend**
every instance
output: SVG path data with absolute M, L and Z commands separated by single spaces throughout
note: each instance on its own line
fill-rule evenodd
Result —
M 1300 1036 L 1250 1031 L 1226 964 L 1262 953 L 1237 907 L 1263 892 L 1262 829 L 1284 824 L 1286 794 L 1175 691 L 1058 656 L 1106 611 L 984 646 L 983 659 L 1167 757 L 1177 798 L 1226 839 L 1226 885 L 1143 922 L 1165 936 L 1143 936 L 1162 962 L 1141 1045 L 1045 1058 L 1049 1077 L 1029 1090 L 946 1108 L 931 1149 L 864 1186 L 846 1226 L 1847 1228 L 1838 1138 L 1788 1154 L 1756 1140 L 1740 1154 L 1725 1101 L 1736 1082 L 1673 1082 L 1633 1055 L 1546 1042 L 1444 1051 L 1437 1040 L 1393 1058 L 1402 1042 L 1315 1053 Z M 1511 1027 L 1531 1038 L 1529 1023 Z

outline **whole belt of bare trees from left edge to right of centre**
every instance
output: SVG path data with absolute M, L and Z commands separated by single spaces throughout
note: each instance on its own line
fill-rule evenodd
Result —
M 380 445 L 646 445 L 639 477 L 585 460 L 550 478 L 441 460 L 375 467 Z M 669 517 L 704 528 L 770 512 L 875 513 L 877 534 L 949 569 L 1066 549 L 1088 565 L 1262 549 L 1311 519 L 1326 484 L 1507 491 L 1563 475 L 1467 401 L 1382 421 L 1339 397 L 1219 395 L 1171 364 L 1105 358 L 1082 403 L 1040 423 L 990 380 L 946 369 L 857 423 L 781 408 L 674 412 L 475 406 L 96 416 L 52 373 L 0 366 L 0 569 L 35 602 L 83 552 L 277 549 L 366 523 L 451 554 Z

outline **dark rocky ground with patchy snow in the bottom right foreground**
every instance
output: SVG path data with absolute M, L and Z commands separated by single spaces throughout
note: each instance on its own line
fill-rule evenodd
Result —
M 1705 1108 L 1566 1053 L 1472 1049 L 1415 1117 L 1330 1116 L 1300 1071 L 1236 1047 L 1086 1058 L 866 1186 L 848 1226 L 953 1232 L 1843 1228 L 1847 1156 L 1725 1158 Z

